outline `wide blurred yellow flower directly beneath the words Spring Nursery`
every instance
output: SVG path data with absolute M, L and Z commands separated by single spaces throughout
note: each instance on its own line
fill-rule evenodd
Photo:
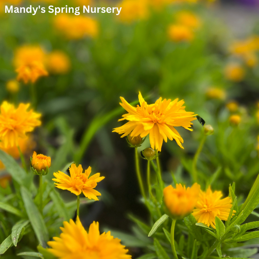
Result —
M 86 16 L 60 14 L 54 18 L 54 27 L 68 39 L 82 39 L 98 35 L 98 23 Z

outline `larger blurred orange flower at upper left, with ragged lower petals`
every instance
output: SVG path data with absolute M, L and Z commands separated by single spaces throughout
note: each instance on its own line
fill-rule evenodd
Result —
M 23 80 L 25 84 L 35 81 L 41 76 L 47 76 L 44 66 L 45 53 L 38 46 L 23 46 L 17 49 L 14 58 L 17 81 Z

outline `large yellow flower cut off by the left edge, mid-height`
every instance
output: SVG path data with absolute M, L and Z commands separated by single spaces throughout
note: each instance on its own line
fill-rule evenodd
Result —
M 26 133 L 32 132 L 41 124 L 41 114 L 32 109 L 30 104 L 19 104 L 16 109 L 13 104 L 4 101 L 0 106 L 0 140 L 4 147 L 17 146 L 19 138 L 26 138 Z

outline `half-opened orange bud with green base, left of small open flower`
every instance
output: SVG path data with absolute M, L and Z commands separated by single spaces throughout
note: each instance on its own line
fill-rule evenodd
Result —
M 46 175 L 51 167 L 51 157 L 34 152 L 31 157 L 31 169 L 37 175 Z

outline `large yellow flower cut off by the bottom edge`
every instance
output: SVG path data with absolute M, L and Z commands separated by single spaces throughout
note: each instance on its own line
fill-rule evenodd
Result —
M 113 238 L 110 231 L 100 235 L 99 223 L 93 222 L 88 233 L 79 217 L 76 223 L 64 222 L 60 237 L 48 242 L 48 249 L 58 259 L 131 259 L 121 240 Z

